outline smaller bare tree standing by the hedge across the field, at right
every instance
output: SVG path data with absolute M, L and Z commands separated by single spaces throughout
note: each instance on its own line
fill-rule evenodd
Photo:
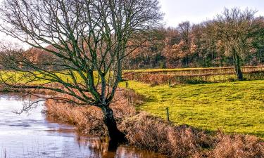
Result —
M 234 68 L 239 80 L 243 79 L 241 59 L 253 48 L 252 40 L 260 29 L 260 18 L 255 18 L 256 11 L 239 8 L 227 9 L 215 19 L 215 29 L 224 44 L 227 55 L 232 55 Z

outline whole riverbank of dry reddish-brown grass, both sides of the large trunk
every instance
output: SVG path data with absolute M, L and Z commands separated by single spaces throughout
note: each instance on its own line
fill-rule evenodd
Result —
M 263 140 L 249 135 L 227 135 L 188 125 L 175 125 L 152 114 L 137 111 L 135 106 L 147 100 L 132 90 L 118 91 L 111 105 L 118 128 L 130 145 L 152 150 L 169 157 L 263 157 Z M 58 121 L 74 124 L 80 133 L 105 136 L 102 114 L 94 107 L 75 107 L 54 100 L 46 102 L 47 112 Z

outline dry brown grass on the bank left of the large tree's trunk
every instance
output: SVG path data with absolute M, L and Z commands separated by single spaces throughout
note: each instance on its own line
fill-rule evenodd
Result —
M 77 131 L 94 136 L 106 135 L 102 112 L 97 107 L 78 107 L 68 103 L 47 100 L 46 111 L 49 117 L 61 123 L 75 125 Z

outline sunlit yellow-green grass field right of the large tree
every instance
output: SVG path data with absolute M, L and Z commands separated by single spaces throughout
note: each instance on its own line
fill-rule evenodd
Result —
M 120 86 L 125 86 L 125 82 Z M 189 124 L 206 130 L 251 133 L 264 138 L 264 81 L 221 84 L 167 85 L 151 87 L 129 81 L 130 88 L 146 96 L 139 107 L 175 124 Z

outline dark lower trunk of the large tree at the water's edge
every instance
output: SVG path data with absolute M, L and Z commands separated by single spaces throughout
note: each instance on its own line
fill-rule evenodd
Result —
M 117 145 L 118 143 L 124 143 L 125 134 L 119 131 L 113 116 L 113 110 L 108 105 L 102 106 L 101 110 L 103 110 L 103 122 L 108 129 L 110 144 Z

